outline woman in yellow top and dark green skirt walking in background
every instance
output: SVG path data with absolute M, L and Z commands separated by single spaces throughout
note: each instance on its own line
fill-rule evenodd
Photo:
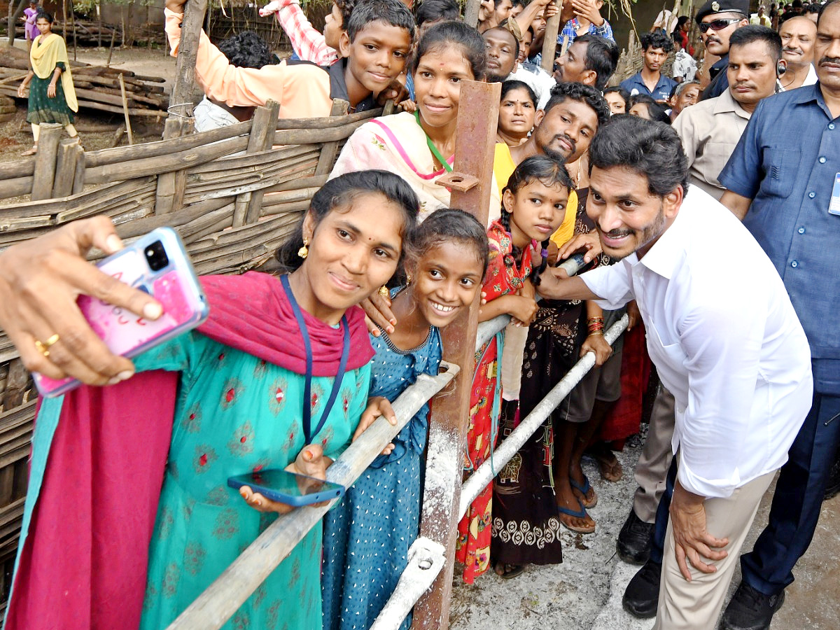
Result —
M 26 121 L 32 124 L 35 139 L 32 149 L 25 151 L 24 155 L 38 152 L 39 123 L 60 123 L 71 138 L 78 135 L 73 126 L 73 113 L 79 110 L 79 104 L 76 102 L 76 90 L 73 89 L 70 60 L 67 58 L 64 39 L 52 32 L 53 22 L 50 13 L 41 12 L 35 18 L 35 26 L 40 34 L 29 50 L 32 70 L 18 87 L 18 97 L 23 98 L 29 86 Z

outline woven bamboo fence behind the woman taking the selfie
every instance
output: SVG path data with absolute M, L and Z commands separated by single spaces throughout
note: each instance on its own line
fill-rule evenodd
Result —
M 270 269 L 274 251 L 327 180 L 344 141 L 382 110 L 252 120 L 148 144 L 82 150 L 42 124 L 39 153 L 0 164 L 0 249 L 77 218 L 106 215 L 130 239 L 168 225 L 199 274 Z M 28 197 L 18 201 L 20 197 Z M 17 549 L 35 398 L 29 373 L 0 330 L 0 611 Z

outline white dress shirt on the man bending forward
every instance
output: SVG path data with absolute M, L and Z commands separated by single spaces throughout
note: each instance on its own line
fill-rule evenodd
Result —
M 642 260 L 580 277 L 601 307 L 638 303 L 676 400 L 686 490 L 730 496 L 785 463 L 811 407 L 811 353 L 778 272 L 726 207 L 692 186 Z

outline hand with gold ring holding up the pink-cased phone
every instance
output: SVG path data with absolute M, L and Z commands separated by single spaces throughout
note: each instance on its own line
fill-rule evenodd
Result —
M 28 370 L 52 379 L 72 376 L 89 385 L 134 375 L 131 361 L 113 354 L 93 332 L 76 298 L 96 297 L 152 320 L 160 317 L 162 308 L 148 294 L 88 263 L 85 256 L 92 247 L 106 254 L 123 247 L 110 219 L 67 223 L 0 255 L 0 328 Z M 48 339 L 47 353 L 43 344 Z

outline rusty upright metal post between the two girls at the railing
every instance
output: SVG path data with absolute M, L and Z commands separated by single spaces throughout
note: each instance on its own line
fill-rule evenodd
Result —
M 444 179 L 452 189 L 451 207 L 472 213 L 487 224 L 493 178 L 500 83 L 464 81 L 459 99 L 454 172 Z M 459 365 L 454 391 L 432 402 L 428 464 L 420 535 L 446 548 L 446 566 L 431 591 L 414 607 L 412 627 L 449 627 L 455 537 L 457 534 L 464 448 L 470 423 L 470 391 L 475 370 L 475 332 L 479 296 L 470 311 L 444 329 L 444 360 Z

